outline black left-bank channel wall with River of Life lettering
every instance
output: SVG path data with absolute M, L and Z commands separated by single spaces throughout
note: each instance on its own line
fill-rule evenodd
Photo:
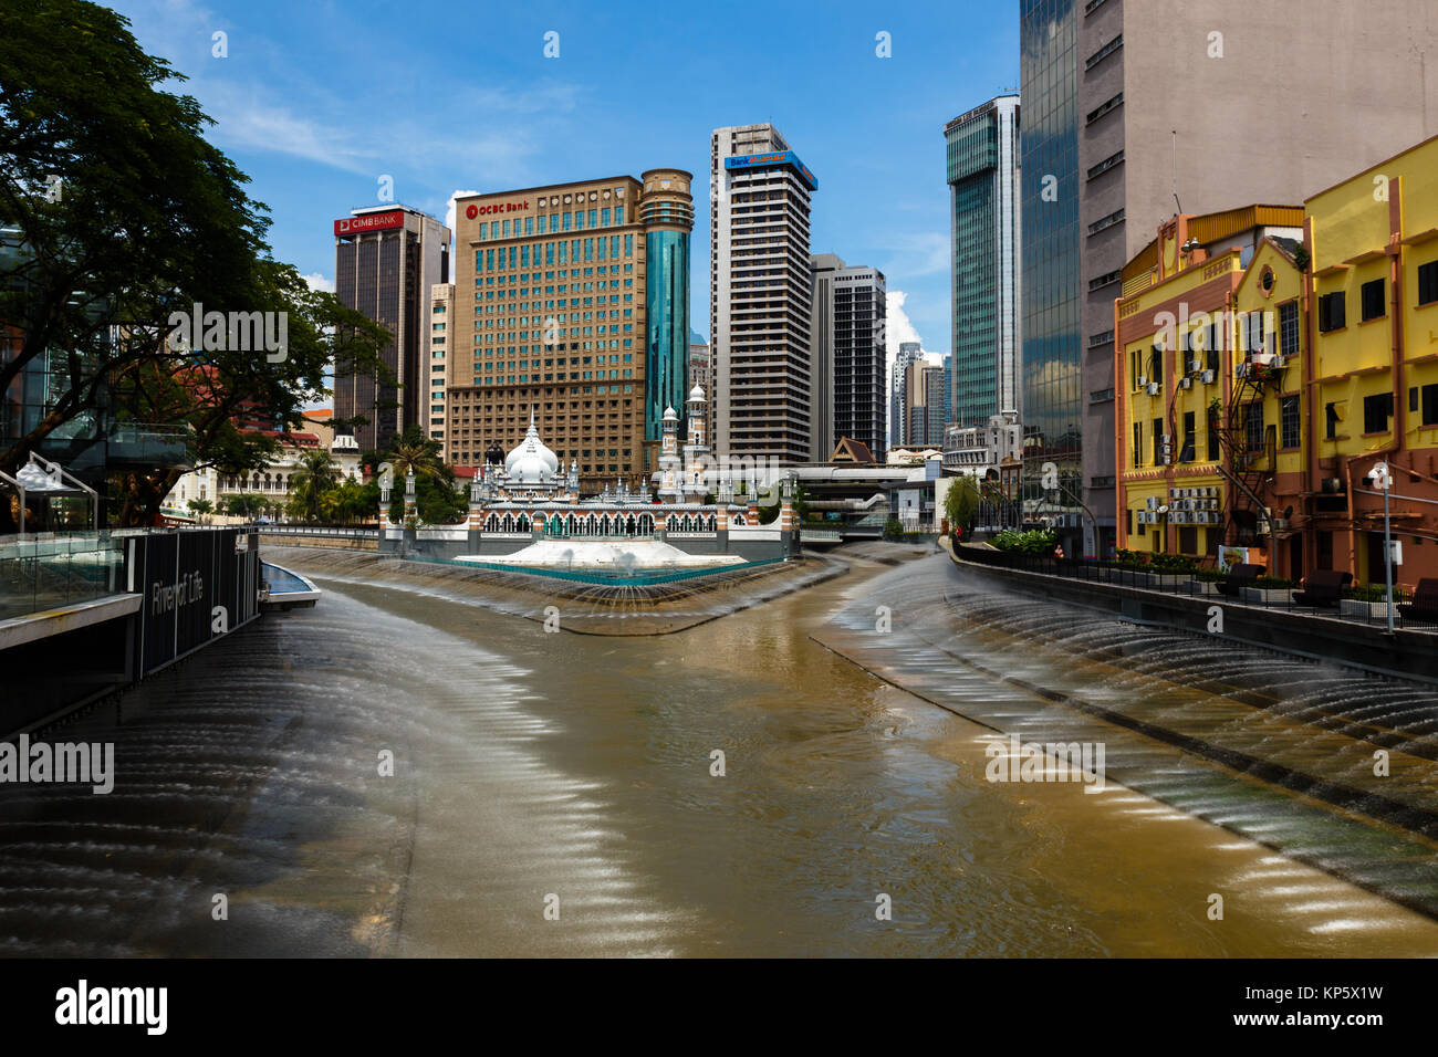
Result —
M 134 686 L 260 613 L 252 531 L 177 529 L 118 544 L 118 591 L 0 621 L 0 738 Z

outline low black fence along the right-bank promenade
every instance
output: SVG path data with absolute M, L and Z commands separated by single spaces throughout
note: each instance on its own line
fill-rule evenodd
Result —
M 995 568 L 1041 572 L 1067 580 L 1086 580 L 1114 587 L 1133 587 L 1171 595 L 1208 600 L 1215 605 L 1242 605 L 1255 610 L 1280 610 L 1301 616 L 1346 620 L 1370 627 L 1388 627 L 1388 603 L 1382 587 L 1343 588 L 1324 604 L 1304 604 L 1294 598 L 1303 584 L 1291 587 L 1261 587 L 1252 581 L 1240 582 L 1215 572 L 1159 572 L 1153 568 L 1133 568 L 1117 562 L 1089 558 L 1054 558 L 1051 555 L 1015 554 L 986 546 L 961 545 L 955 554 L 963 561 Z M 1415 600 L 1393 587 L 1393 628 L 1438 631 L 1438 603 Z

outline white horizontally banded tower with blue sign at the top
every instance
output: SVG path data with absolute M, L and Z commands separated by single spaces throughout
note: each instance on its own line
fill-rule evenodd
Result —
M 818 181 L 774 125 L 736 125 L 710 138 L 709 188 L 715 450 L 808 462 L 810 197 Z

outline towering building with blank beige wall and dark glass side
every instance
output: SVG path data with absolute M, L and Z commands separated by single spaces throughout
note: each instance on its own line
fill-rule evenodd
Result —
M 1431 0 L 1020 1 L 1025 503 L 1053 463 L 1070 554 L 1114 539 L 1125 262 L 1173 213 L 1303 201 L 1438 131 L 1435 39 Z

